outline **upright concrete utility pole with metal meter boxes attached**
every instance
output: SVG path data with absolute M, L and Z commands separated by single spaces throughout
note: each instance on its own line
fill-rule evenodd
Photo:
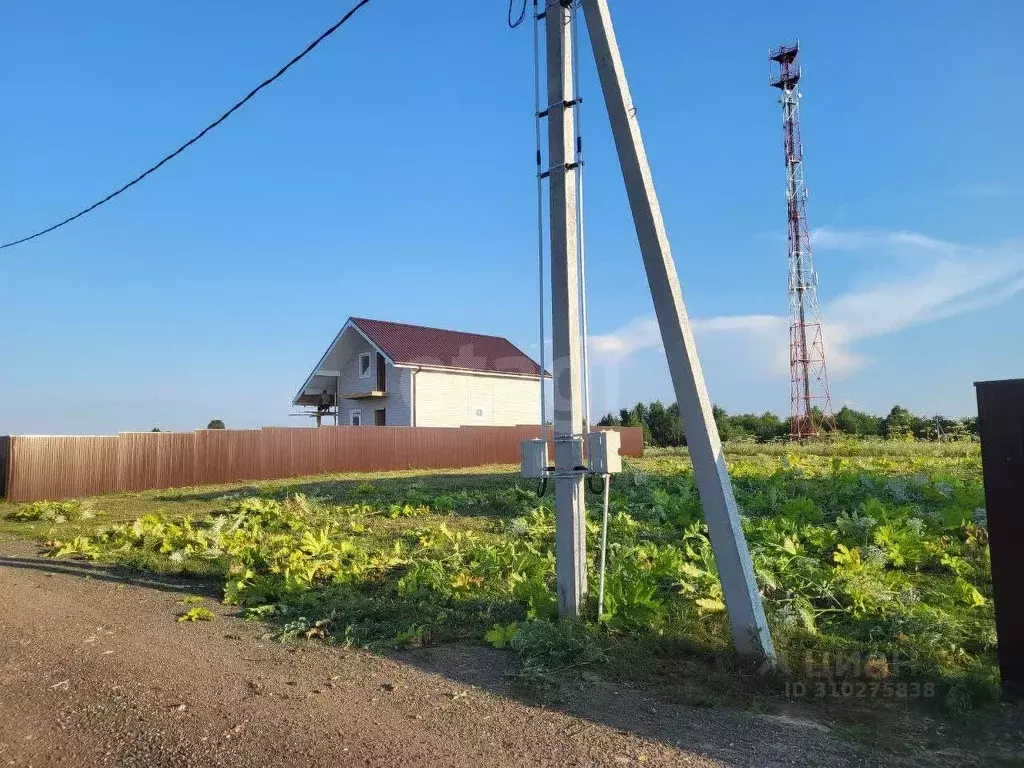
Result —
M 558 613 L 575 616 L 587 592 L 584 475 L 577 450 L 583 432 L 580 280 L 570 8 L 545 0 L 548 60 L 548 159 L 551 201 L 551 336 L 554 376 L 555 560 Z

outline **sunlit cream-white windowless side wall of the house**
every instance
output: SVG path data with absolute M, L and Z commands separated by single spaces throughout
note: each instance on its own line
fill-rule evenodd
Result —
M 536 379 L 420 371 L 415 374 L 416 426 L 514 426 L 541 416 Z

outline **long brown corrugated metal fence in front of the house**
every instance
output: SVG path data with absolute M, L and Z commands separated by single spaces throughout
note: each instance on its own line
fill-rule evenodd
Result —
M 643 433 L 621 428 L 623 456 Z M 321 427 L 123 432 L 116 437 L 9 438 L 9 501 L 271 480 L 330 472 L 517 464 L 537 426 Z M 2 443 L 0 443 L 2 445 Z M 0 489 L 4 486 L 0 484 Z

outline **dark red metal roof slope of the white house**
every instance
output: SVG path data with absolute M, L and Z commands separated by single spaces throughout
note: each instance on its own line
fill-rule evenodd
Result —
M 399 366 L 539 376 L 541 367 L 508 339 L 404 323 L 352 317 L 352 323 Z

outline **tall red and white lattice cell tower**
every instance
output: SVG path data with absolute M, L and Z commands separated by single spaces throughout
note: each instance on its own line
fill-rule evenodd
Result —
M 800 140 L 800 44 L 769 52 L 771 84 L 781 92 L 785 200 L 790 219 L 790 436 L 813 437 L 835 425 L 825 345 L 818 311 L 818 276 L 807 226 L 804 146 Z

